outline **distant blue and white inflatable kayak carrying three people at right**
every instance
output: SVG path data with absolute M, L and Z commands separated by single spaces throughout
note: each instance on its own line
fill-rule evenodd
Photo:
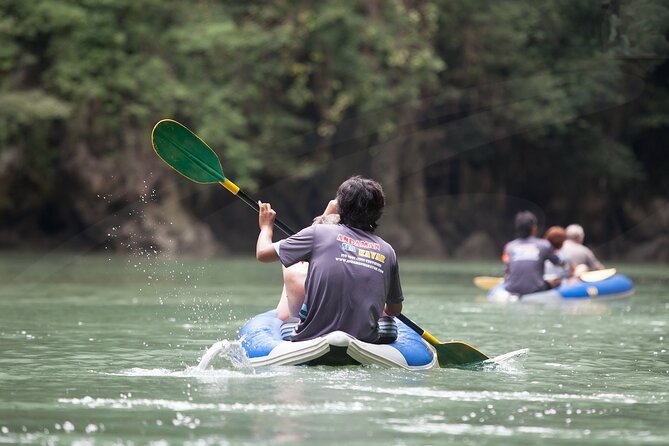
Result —
M 505 284 L 502 283 L 490 290 L 488 300 L 493 302 L 560 303 L 616 300 L 624 299 L 632 294 L 634 294 L 634 285 L 630 278 L 622 274 L 615 274 L 596 282 L 566 284 L 551 290 L 523 296 L 508 292 Z

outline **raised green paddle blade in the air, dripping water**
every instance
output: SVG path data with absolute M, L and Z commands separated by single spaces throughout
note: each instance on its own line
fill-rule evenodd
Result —
M 188 128 L 171 119 L 158 122 L 151 132 L 153 150 L 172 169 L 198 183 L 225 181 L 221 161 Z

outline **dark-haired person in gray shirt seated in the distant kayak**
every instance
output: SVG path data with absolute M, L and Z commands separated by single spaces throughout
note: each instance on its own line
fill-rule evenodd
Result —
M 544 280 L 544 262 L 561 265 L 562 261 L 548 240 L 536 236 L 537 217 L 530 211 L 519 212 L 515 227 L 518 238 L 507 243 L 502 254 L 506 263 L 506 290 L 522 296 L 552 288 L 555 284 Z

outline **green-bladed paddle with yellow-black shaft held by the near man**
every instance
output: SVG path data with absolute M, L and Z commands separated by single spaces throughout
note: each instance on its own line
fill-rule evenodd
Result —
M 246 195 L 235 183 L 225 177 L 221 161 L 216 153 L 182 124 L 172 119 L 163 119 L 158 122 L 151 132 L 151 143 L 153 150 L 168 166 L 189 180 L 204 184 L 219 183 L 256 212 L 260 211 L 257 200 Z M 274 220 L 274 224 L 289 237 L 295 234 L 295 231 L 278 218 Z M 464 342 L 439 342 L 403 314 L 399 314 L 397 318 L 434 347 L 439 367 L 464 366 L 490 359 Z

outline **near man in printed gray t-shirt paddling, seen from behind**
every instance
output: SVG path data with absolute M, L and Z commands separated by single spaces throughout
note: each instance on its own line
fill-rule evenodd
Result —
M 339 186 L 336 203 L 339 224 L 312 225 L 276 243 L 276 213 L 269 203 L 259 203 L 256 258 L 280 260 L 286 268 L 309 262 L 304 318 L 291 340 L 341 330 L 362 341 L 388 342 L 379 334 L 379 319 L 399 314 L 404 297 L 395 251 L 374 234 L 385 205 L 383 189 L 376 181 L 352 177 Z

